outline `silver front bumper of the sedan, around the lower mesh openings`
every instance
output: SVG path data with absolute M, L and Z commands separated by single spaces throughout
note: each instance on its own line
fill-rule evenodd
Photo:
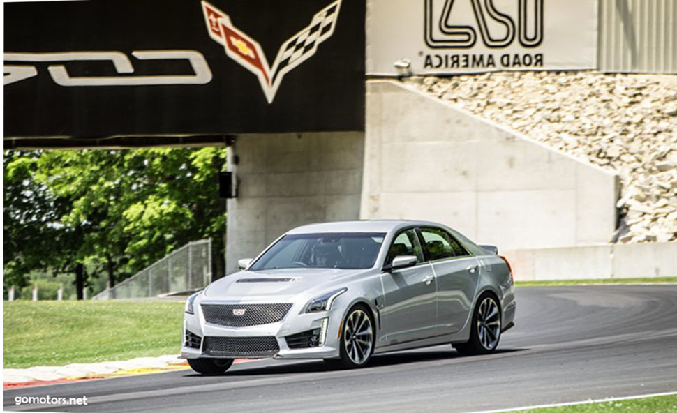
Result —
M 184 313 L 183 337 L 181 345 L 182 359 L 207 358 L 237 358 L 237 359 L 260 359 L 274 357 L 275 359 L 329 359 L 339 357 L 339 330 L 343 320 L 345 307 L 332 308 L 329 311 L 319 313 L 299 313 L 302 308 L 292 306 L 289 312 L 280 322 L 260 324 L 256 326 L 231 327 L 218 324 L 210 324 L 204 321 L 202 310 L 199 305 L 195 306 L 195 314 Z M 323 327 L 323 320 L 325 326 Z M 313 329 L 320 329 L 320 336 L 325 337 L 324 344 L 317 347 L 291 349 L 285 340 L 286 336 L 302 333 Z M 202 338 L 200 348 L 186 347 L 186 330 Z M 324 330 L 324 331 L 322 331 Z M 251 337 L 274 337 L 277 340 L 279 350 L 274 354 L 252 355 L 249 353 L 229 353 L 228 356 L 216 356 L 204 351 L 204 337 L 220 338 L 251 338 Z

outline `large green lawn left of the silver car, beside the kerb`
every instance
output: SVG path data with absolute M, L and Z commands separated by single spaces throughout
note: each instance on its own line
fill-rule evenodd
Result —
M 4 367 L 64 366 L 178 354 L 184 303 L 4 303 Z

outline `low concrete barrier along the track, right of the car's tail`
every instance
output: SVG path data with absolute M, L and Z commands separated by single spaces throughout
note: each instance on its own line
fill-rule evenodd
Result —
M 500 251 L 516 280 L 677 277 L 677 242 Z

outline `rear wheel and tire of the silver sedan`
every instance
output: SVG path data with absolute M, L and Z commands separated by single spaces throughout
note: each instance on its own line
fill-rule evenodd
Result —
M 463 356 L 495 352 L 500 341 L 500 319 L 501 310 L 496 297 L 489 293 L 479 296 L 470 326 L 470 340 L 454 344 L 456 351 Z

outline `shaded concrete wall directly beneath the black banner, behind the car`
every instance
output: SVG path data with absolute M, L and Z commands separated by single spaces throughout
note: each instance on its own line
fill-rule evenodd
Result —
M 226 273 L 299 225 L 359 218 L 363 133 L 240 136 L 228 200 Z

